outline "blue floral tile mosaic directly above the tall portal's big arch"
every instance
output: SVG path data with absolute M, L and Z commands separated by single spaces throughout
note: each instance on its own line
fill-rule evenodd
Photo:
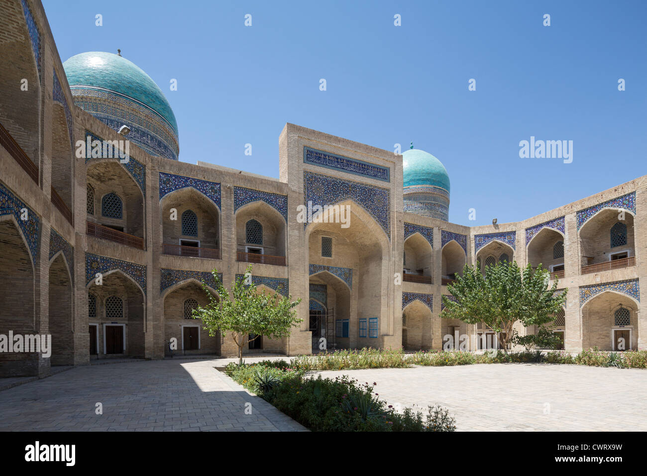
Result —
M 303 202 L 313 205 L 334 205 L 340 201 L 351 199 L 361 205 L 382 227 L 391 240 L 391 207 L 389 205 L 389 190 L 371 187 L 362 183 L 333 177 L 303 172 Z M 308 223 L 304 223 L 304 228 Z

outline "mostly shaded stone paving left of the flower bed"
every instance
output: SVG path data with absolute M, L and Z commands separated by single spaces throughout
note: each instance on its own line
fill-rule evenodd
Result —
M 169 359 L 72 368 L 0 392 L 0 431 L 305 431 L 215 370 L 224 362 Z M 97 402 L 102 415 L 94 413 Z M 247 402 L 252 414 L 245 414 Z

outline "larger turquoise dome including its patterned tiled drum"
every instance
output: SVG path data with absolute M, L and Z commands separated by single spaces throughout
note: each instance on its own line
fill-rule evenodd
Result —
M 63 63 L 74 104 L 151 155 L 177 161 L 177 122 L 162 90 L 135 63 L 118 54 L 87 52 Z

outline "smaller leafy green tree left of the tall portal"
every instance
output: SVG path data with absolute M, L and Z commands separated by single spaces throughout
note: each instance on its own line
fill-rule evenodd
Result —
M 210 336 L 216 332 L 223 335 L 229 333 L 238 346 L 238 361 L 243 363 L 243 347 L 254 341 L 259 335 L 270 339 L 280 339 L 290 335 L 292 327 L 303 321 L 296 318 L 294 308 L 301 299 L 292 301 L 292 295 L 279 297 L 278 293 L 264 293 L 252 284 L 252 265 L 247 267 L 245 275 L 238 278 L 228 291 L 220 278 L 217 269 L 212 271 L 215 278 L 216 291 L 219 299 L 214 296 L 203 282 L 204 292 L 209 303 L 193 310 L 193 319 L 202 319 L 204 329 Z M 256 337 L 249 339 L 249 334 Z

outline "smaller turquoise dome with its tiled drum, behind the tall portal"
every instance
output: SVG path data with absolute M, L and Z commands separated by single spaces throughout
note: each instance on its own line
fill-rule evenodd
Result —
M 404 211 L 449 220 L 449 176 L 444 165 L 424 150 L 402 153 Z

